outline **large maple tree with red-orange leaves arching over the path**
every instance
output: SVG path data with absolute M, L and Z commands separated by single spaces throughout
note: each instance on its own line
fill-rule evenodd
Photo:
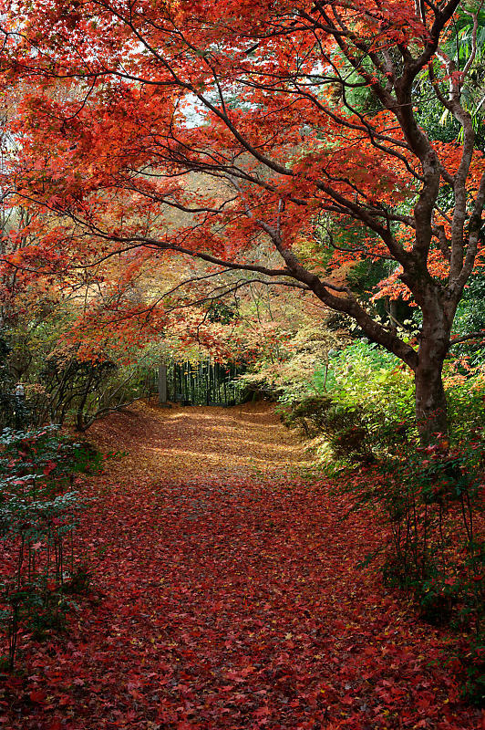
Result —
M 483 154 L 461 100 L 479 4 L 21 0 L 5 9 L 5 84 L 24 89 L 7 178 L 35 236 L 11 265 L 87 270 L 118 255 L 134 271 L 178 252 L 293 283 L 414 371 L 425 442 L 447 432 L 443 361 L 453 341 L 480 335 L 452 336 L 485 201 Z M 446 42 L 464 11 L 473 26 L 460 64 Z M 459 143 L 430 139 L 417 109 L 428 99 L 458 122 Z M 348 229 L 341 258 L 395 266 L 383 291 L 420 308 L 417 344 L 373 317 L 322 257 L 300 255 L 315 224 L 337 249 L 335 230 Z

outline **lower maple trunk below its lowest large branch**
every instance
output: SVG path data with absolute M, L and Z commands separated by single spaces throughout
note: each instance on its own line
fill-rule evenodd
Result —
M 448 412 L 442 363 L 420 363 L 415 372 L 416 422 L 422 445 L 448 436 Z M 439 435 L 438 435 L 439 434 Z

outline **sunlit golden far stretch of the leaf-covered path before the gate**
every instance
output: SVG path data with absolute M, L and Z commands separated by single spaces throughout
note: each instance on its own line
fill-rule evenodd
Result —
M 117 474 L 129 466 L 150 478 L 287 474 L 309 464 L 295 435 L 262 403 L 235 408 L 138 405 L 95 423 L 89 438 L 105 451 L 114 446 L 128 451 L 121 469 L 115 467 Z

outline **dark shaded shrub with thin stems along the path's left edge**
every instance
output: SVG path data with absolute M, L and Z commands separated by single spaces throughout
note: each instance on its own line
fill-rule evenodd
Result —
M 55 427 L 0 436 L 0 626 L 10 669 L 19 637 L 61 630 L 72 605 L 67 594 L 88 586 L 75 540 L 84 504 L 73 485 L 77 472 L 98 464 L 92 447 Z

